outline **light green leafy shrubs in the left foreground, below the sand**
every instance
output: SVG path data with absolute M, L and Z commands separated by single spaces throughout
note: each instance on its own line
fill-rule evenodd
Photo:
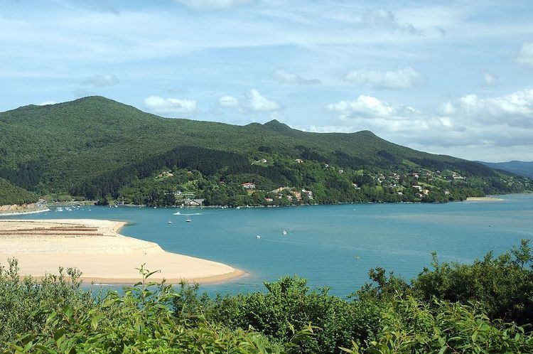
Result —
M 143 281 L 122 296 L 109 291 L 94 300 L 80 290 L 76 274 L 72 281 L 48 277 L 43 286 L 30 279 L 18 284 L 18 274 L 10 272 L 0 279 L 21 312 L 13 314 L 6 307 L 11 302 L 0 298 L 0 313 L 9 316 L 0 323 L 0 349 L 12 353 L 285 353 L 311 334 L 296 333 L 293 343 L 275 345 L 254 331 L 173 316 L 168 304 L 178 294 L 172 286 L 149 282 L 154 272 L 144 267 Z M 21 306 L 31 302 L 31 309 Z

